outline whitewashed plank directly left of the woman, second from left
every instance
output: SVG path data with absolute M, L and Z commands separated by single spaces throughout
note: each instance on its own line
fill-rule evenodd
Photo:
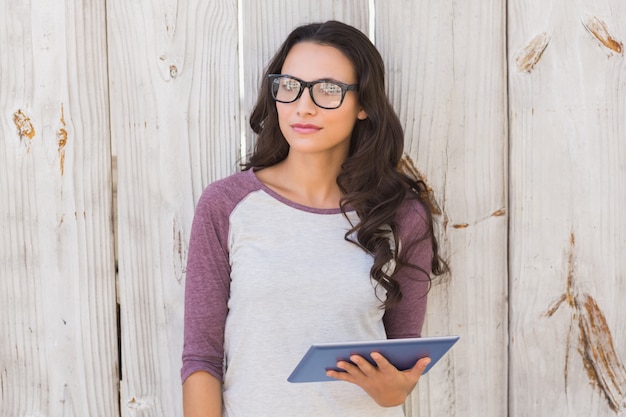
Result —
M 124 416 L 180 416 L 183 284 L 194 204 L 236 170 L 236 1 L 113 0 Z

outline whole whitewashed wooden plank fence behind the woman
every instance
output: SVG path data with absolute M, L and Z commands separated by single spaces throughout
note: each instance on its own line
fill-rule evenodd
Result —
M 626 416 L 622 0 L 0 0 L 0 416 L 182 416 L 194 203 L 297 24 L 375 41 L 443 215 L 410 416 Z

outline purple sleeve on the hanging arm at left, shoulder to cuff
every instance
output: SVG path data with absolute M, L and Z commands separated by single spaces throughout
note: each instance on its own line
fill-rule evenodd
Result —
M 214 186 L 205 190 L 196 207 L 185 280 L 183 382 L 196 371 L 222 380 L 230 292 L 228 205 Z

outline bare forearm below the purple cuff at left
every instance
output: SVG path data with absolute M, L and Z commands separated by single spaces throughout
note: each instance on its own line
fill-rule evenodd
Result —
M 183 384 L 185 417 L 222 417 L 222 383 L 208 372 L 195 372 Z

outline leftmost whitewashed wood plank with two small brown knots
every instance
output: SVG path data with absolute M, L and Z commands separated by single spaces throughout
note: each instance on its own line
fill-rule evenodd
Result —
M 0 4 L 0 415 L 118 415 L 104 3 Z

